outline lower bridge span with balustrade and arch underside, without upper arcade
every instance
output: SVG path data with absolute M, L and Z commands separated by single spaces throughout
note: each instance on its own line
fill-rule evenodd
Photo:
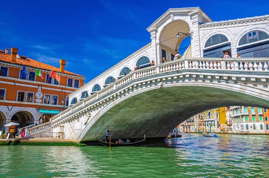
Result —
M 242 60 L 186 58 L 134 71 L 51 118 L 51 127 L 76 141 L 106 130 L 114 138 L 161 137 L 211 108 L 269 108 L 269 59 Z

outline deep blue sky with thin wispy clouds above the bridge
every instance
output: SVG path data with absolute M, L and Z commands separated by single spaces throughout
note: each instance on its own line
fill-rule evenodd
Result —
M 221 4 L 223 2 L 223 4 Z M 269 14 L 269 1 L 13 0 L 0 4 L 0 49 L 90 81 L 150 42 L 146 28 L 169 8 L 200 7 L 213 21 Z

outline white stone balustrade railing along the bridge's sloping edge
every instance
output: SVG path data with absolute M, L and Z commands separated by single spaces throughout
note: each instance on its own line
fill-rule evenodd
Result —
M 88 98 L 80 101 L 74 106 L 64 110 L 58 115 L 51 118 L 52 123 L 61 121 L 62 117 L 78 111 L 80 108 L 88 105 L 99 98 L 110 94 L 118 88 L 124 86 L 130 81 L 138 78 L 148 77 L 151 75 L 180 71 L 184 69 L 197 69 L 197 70 L 245 70 L 245 71 L 264 71 L 268 72 L 269 58 L 181 58 L 168 63 L 150 66 L 147 68 L 133 71 L 119 80 L 111 83 L 110 85 L 102 88 L 102 90 L 89 96 Z

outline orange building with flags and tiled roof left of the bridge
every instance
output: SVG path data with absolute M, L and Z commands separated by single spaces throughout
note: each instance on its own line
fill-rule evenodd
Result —
M 16 48 L 11 48 L 11 54 L 9 49 L 0 50 L 0 129 L 9 122 L 21 128 L 49 121 L 68 107 L 68 95 L 84 79 L 66 71 L 65 60 L 57 68 L 19 55 Z

